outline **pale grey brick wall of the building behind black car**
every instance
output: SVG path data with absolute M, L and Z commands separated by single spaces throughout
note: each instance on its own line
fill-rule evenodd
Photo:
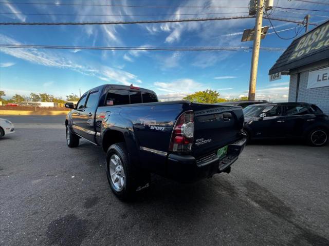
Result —
M 308 72 L 309 70 L 300 72 L 297 101 L 316 104 L 325 114 L 329 114 L 329 87 L 307 89 Z M 297 74 L 292 74 L 290 75 L 288 101 L 295 101 L 296 89 Z

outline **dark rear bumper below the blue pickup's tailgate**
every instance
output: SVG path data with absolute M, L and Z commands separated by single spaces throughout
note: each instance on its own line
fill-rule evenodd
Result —
M 194 182 L 208 178 L 215 173 L 229 172 L 230 166 L 237 160 L 246 145 L 245 135 L 228 145 L 227 155 L 219 159 L 216 153 L 211 153 L 200 159 L 191 155 L 169 154 L 168 176 L 178 182 Z

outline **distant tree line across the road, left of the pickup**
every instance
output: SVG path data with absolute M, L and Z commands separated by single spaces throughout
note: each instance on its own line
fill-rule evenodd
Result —
M 0 100 L 6 104 L 6 103 L 21 103 L 22 101 L 39 101 L 39 102 L 46 102 L 50 101 L 52 103 L 59 103 L 59 104 L 65 104 L 67 101 L 78 101 L 79 96 L 71 93 L 69 95 L 66 95 L 66 100 L 64 100 L 61 96 L 56 97 L 47 93 L 31 93 L 30 96 L 15 94 L 10 99 L 6 100 L 3 97 L 6 96 L 4 91 L 0 91 Z

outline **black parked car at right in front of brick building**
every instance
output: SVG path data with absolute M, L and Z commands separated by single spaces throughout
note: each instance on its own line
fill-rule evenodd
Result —
M 328 141 L 329 116 L 314 104 L 255 104 L 243 112 L 248 139 L 300 138 L 312 146 L 324 146 Z

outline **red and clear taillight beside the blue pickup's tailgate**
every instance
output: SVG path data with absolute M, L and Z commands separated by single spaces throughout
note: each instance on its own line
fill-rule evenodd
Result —
M 189 152 L 192 149 L 194 137 L 193 111 L 182 113 L 177 119 L 171 135 L 169 150 L 174 152 Z

